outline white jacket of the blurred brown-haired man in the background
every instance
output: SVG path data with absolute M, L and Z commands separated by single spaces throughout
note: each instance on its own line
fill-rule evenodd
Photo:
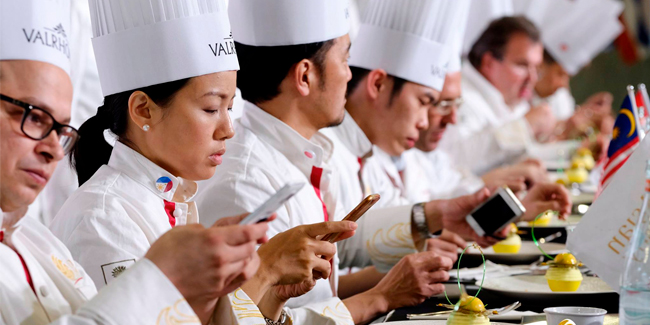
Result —
M 449 126 L 438 150 L 447 152 L 456 166 L 483 175 L 517 159 L 532 143 L 524 118 L 529 105 L 525 101 L 516 107 L 506 105 L 501 93 L 468 62 L 462 76 L 465 103 L 458 111 L 458 123 Z

